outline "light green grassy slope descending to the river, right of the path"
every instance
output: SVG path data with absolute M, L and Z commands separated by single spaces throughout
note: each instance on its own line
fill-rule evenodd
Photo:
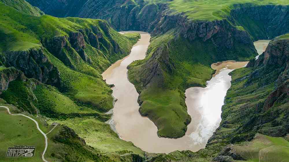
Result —
M 131 142 L 126 142 L 118 138 L 118 135 L 112 131 L 110 125 L 95 118 L 74 118 L 57 122 L 74 129 L 81 138 L 85 139 L 86 144 L 96 148 L 103 154 L 112 153 L 122 155 L 124 154 L 122 152 L 128 152 L 140 156 L 144 155 L 144 152 Z

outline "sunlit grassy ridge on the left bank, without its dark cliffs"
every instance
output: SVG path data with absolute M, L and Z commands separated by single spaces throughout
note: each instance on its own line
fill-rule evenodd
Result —
M 0 3 L 0 53 L 41 49 L 49 62 L 60 72 L 60 92 L 72 100 L 99 111 L 112 108 L 112 90 L 102 80 L 101 73 L 117 60 L 127 56 L 140 35 L 123 36 L 104 20 L 55 18 L 49 15 L 30 16 Z M 68 41 L 70 34 L 81 31 L 91 58 L 86 62 Z M 89 35 L 99 37 L 98 46 Z M 66 46 L 60 53 L 53 51 L 60 44 L 55 38 L 65 37 Z M 53 76 L 50 76 L 53 77 Z

